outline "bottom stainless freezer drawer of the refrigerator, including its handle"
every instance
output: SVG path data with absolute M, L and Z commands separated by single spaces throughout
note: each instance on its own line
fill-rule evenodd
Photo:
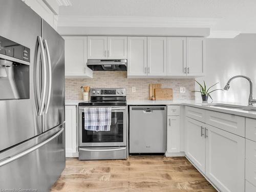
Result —
M 0 186 L 49 191 L 64 168 L 65 126 L 60 125 L 0 153 Z

